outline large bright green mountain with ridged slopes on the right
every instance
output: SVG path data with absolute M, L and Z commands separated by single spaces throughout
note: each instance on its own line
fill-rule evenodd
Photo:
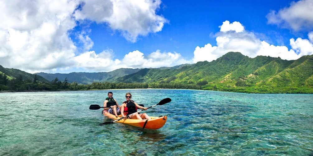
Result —
M 216 61 L 179 69 L 142 69 L 115 82 L 197 84 L 207 90 L 255 93 L 313 93 L 313 55 L 298 60 L 228 52 Z

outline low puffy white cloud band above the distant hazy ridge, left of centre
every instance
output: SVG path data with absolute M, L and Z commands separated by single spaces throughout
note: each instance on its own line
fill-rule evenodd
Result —
M 119 68 L 157 68 L 163 66 L 177 66 L 191 63 L 182 59 L 181 55 L 174 52 L 160 52 L 157 50 L 145 56 L 141 51 L 131 51 L 122 60 L 114 60 L 112 49 L 96 54 L 95 51 L 87 51 L 74 57 L 75 67 L 87 71 L 113 71 Z M 67 71 L 72 68 L 67 68 Z M 66 72 L 64 69 L 64 72 Z

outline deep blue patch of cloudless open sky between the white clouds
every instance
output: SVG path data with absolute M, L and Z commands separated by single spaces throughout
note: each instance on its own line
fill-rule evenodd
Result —
M 93 22 L 90 26 L 90 38 L 94 42 L 91 50 L 102 51 L 110 48 L 119 52 L 116 58 L 122 59 L 130 51 L 139 50 L 151 53 L 157 49 L 161 51 L 177 51 L 184 57 L 192 58 L 196 46 L 211 43 L 216 46 L 214 34 L 219 32 L 222 22 L 238 21 L 246 30 L 259 33 L 274 45 L 285 45 L 290 48 L 289 39 L 292 37 L 306 37 L 304 34 L 293 35 L 288 29 L 267 24 L 266 15 L 270 10 L 280 10 L 289 6 L 292 1 L 162 1 L 157 10 L 158 15 L 165 17 L 168 22 L 162 31 L 140 36 L 133 43 L 127 41 L 118 32 L 113 32 L 106 23 Z M 269 5 L 270 4 L 270 5 Z M 76 27 L 80 30 L 80 27 Z M 114 34 L 110 36 L 110 34 Z

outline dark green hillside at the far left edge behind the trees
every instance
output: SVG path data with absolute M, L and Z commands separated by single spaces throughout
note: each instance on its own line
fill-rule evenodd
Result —
M 13 69 L 13 68 L 4 68 L 0 65 L 0 74 L 5 75 L 8 77 L 8 80 L 16 79 L 21 76 L 22 80 L 29 80 L 33 81 L 35 78 L 35 74 L 30 74 L 25 71 L 21 71 L 19 69 Z M 49 82 L 49 80 L 46 80 L 42 76 L 37 75 L 38 81 L 40 82 Z

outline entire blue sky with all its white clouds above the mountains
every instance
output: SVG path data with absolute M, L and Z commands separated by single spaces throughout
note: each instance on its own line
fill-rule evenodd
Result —
M 213 61 L 229 51 L 313 55 L 313 0 L 1 0 L 0 65 L 109 72 Z

